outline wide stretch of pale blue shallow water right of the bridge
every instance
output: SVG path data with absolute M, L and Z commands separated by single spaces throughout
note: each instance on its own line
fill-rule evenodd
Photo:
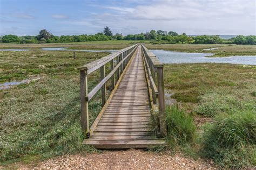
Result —
M 151 50 L 163 63 L 233 63 L 256 65 L 256 56 L 205 57 L 213 53 L 185 53 L 165 50 Z

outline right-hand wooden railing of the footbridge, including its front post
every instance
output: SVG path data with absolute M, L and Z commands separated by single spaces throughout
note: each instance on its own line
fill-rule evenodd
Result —
M 166 131 L 165 124 L 165 99 L 164 99 L 164 65 L 161 63 L 156 55 L 154 55 L 149 49 L 147 49 L 144 45 L 142 45 L 142 55 L 145 61 L 145 69 L 147 72 L 147 79 L 150 83 L 150 91 L 152 91 L 152 102 L 153 104 L 158 105 L 158 111 L 152 109 L 156 112 L 157 116 L 157 130 L 158 136 L 163 137 Z

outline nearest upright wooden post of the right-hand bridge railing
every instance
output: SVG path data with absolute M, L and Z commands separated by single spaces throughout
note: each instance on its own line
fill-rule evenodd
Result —
M 165 125 L 164 70 L 163 70 L 163 67 L 157 68 L 157 82 L 158 82 L 159 131 L 160 131 L 160 136 L 164 137 L 164 134 L 166 132 L 166 125 Z

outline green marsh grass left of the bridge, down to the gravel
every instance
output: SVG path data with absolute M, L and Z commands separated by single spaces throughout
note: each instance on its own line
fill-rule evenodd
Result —
M 109 53 L 98 54 L 78 52 L 73 59 L 72 53 L 61 51 L 0 53 L 1 82 L 41 77 L 29 84 L 0 90 L 1 164 L 95 151 L 82 145 L 77 67 Z M 39 69 L 38 65 L 46 68 Z M 109 71 L 109 66 L 106 70 Z M 89 90 L 99 79 L 98 72 L 89 76 Z M 90 125 L 100 109 L 97 93 L 89 103 Z

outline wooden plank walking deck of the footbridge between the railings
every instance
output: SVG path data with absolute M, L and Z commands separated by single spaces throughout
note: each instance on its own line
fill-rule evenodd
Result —
M 96 148 L 144 148 L 165 143 L 152 133 L 149 92 L 140 48 L 134 53 L 96 130 L 83 144 Z

